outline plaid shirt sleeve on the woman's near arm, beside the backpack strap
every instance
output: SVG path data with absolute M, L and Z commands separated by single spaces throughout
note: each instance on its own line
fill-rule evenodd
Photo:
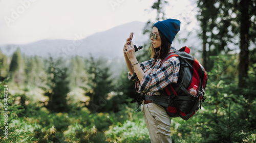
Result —
M 156 92 L 165 88 L 169 83 L 178 81 L 180 61 L 176 57 L 166 60 L 156 73 L 144 74 L 142 81 L 136 81 L 139 93 Z

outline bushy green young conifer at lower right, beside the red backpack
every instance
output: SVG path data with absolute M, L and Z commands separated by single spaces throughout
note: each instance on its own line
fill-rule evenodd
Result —
M 221 60 L 225 60 L 225 56 L 222 57 Z M 251 136 L 252 131 L 255 130 L 255 126 L 251 127 L 255 119 L 251 110 L 256 106 L 255 101 L 245 98 L 251 93 L 248 90 L 245 92 L 245 89 L 242 90 L 243 92 L 239 91 L 241 89 L 234 84 L 236 79 L 227 76 L 225 70 L 230 63 L 224 64 L 218 58 L 216 60 L 215 67 L 208 74 L 212 78 L 206 91 L 208 99 L 206 106 L 203 107 L 207 110 L 203 115 L 204 119 L 210 120 L 205 120 L 206 128 L 201 132 L 204 137 L 202 142 L 243 142 L 246 136 Z M 255 80 L 255 78 L 251 79 Z

